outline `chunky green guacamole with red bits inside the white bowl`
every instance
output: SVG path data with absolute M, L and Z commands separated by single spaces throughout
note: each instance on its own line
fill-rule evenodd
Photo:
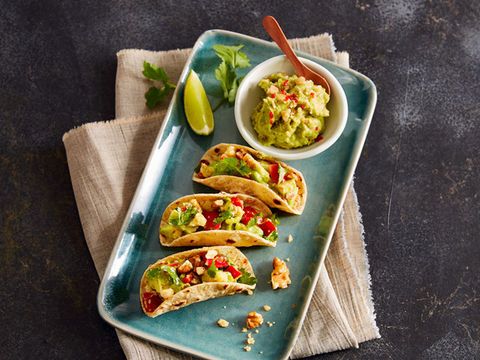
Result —
M 252 114 L 252 125 L 264 145 L 294 149 L 321 140 L 330 96 L 303 76 L 276 73 L 260 80 L 265 97 Z

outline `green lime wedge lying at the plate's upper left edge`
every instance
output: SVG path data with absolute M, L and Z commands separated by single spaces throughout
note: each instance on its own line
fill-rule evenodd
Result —
M 193 70 L 185 83 L 183 105 L 192 130 L 198 135 L 211 134 L 214 128 L 212 108 L 202 82 Z

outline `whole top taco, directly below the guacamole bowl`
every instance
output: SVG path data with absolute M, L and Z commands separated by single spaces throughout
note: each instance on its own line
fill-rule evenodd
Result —
M 193 181 L 231 193 L 253 195 L 270 207 L 301 214 L 307 185 L 300 171 L 246 146 L 218 144 L 200 160 Z

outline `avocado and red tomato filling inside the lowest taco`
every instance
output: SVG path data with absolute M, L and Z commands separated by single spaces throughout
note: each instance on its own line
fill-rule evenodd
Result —
M 238 269 L 225 255 L 211 249 L 172 263 L 158 264 L 147 271 L 143 305 L 153 312 L 163 301 L 182 289 L 204 282 L 234 282 L 254 285 L 257 279 L 245 269 Z

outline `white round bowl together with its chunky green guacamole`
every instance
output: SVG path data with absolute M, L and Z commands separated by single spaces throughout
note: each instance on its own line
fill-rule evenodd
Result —
M 340 82 L 319 63 L 303 57 L 300 61 L 328 81 L 329 98 L 324 90 L 314 88 L 316 85 L 307 81 L 301 84 L 303 79 L 294 75 L 295 69 L 284 55 L 270 58 L 250 70 L 235 98 L 235 122 L 243 139 L 254 149 L 276 159 L 300 160 L 316 156 L 340 138 L 347 124 L 348 102 Z M 341 74 L 341 70 L 336 71 Z M 271 85 L 275 85 L 278 92 Z M 313 91 L 309 91 L 310 86 Z M 312 92 L 314 96 L 310 98 Z M 287 121 L 283 120 L 282 111 Z M 256 123 L 260 125 L 257 125 L 258 130 Z

